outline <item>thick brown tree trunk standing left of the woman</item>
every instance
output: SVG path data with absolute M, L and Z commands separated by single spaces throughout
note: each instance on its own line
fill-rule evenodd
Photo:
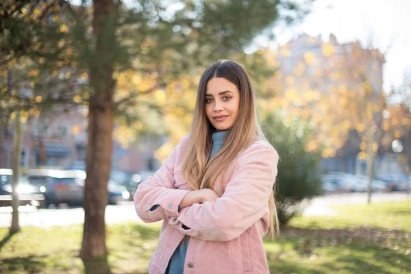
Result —
M 92 93 L 88 112 L 86 149 L 86 184 L 84 189 L 84 232 L 80 257 L 91 260 L 107 255 L 105 246 L 105 205 L 112 160 L 114 125 L 114 4 L 95 0 L 93 28 L 96 38 L 95 58 L 90 62 Z M 107 271 L 104 271 L 107 273 Z

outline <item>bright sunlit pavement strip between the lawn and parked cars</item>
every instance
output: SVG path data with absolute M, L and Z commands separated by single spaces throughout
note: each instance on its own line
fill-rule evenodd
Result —
M 400 201 L 407 198 L 405 193 L 373 193 L 373 202 L 378 201 Z M 334 210 L 329 206 L 364 204 L 366 203 L 365 193 L 333 194 L 318 197 L 311 201 L 310 205 L 303 212 L 305 215 L 332 215 Z M 72 225 L 84 223 L 83 208 L 59 208 L 36 209 L 32 206 L 21 206 L 20 225 L 51 227 L 53 225 Z M 10 227 L 12 219 L 10 207 L 0 207 L 0 227 Z M 117 206 L 107 206 L 105 208 L 105 223 L 121 223 L 123 221 L 140 221 L 134 210 L 132 202 L 122 202 Z

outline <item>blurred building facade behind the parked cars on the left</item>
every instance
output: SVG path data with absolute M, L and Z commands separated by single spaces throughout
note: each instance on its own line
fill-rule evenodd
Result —
M 23 125 L 21 166 L 23 170 L 38 167 L 58 169 L 85 169 L 87 147 L 87 110 L 78 108 L 71 112 L 54 114 L 45 118 L 32 117 Z M 1 129 L 0 168 L 12 167 L 12 123 Z M 112 169 L 135 173 L 156 170 L 160 162 L 154 151 L 165 142 L 163 137 L 142 136 L 140 142 L 121 147 L 114 140 Z

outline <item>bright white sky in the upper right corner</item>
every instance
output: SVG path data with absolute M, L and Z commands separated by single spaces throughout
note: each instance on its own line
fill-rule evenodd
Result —
M 360 40 L 386 53 L 384 89 L 403 82 L 411 73 L 411 0 L 316 0 L 312 12 L 291 29 L 277 29 L 277 42 L 284 44 L 305 32 L 328 41 L 329 34 L 338 42 Z

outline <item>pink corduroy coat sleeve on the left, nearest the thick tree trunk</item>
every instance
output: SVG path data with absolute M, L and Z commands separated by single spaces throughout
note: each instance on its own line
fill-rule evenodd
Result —
M 161 168 L 142 182 L 134 194 L 134 207 L 137 215 L 145 223 L 153 223 L 179 215 L 179 204 L 189 190 L 175 188 L 174 164 L 179 149 L 188 140 L 186 136 L 171 151 Z

